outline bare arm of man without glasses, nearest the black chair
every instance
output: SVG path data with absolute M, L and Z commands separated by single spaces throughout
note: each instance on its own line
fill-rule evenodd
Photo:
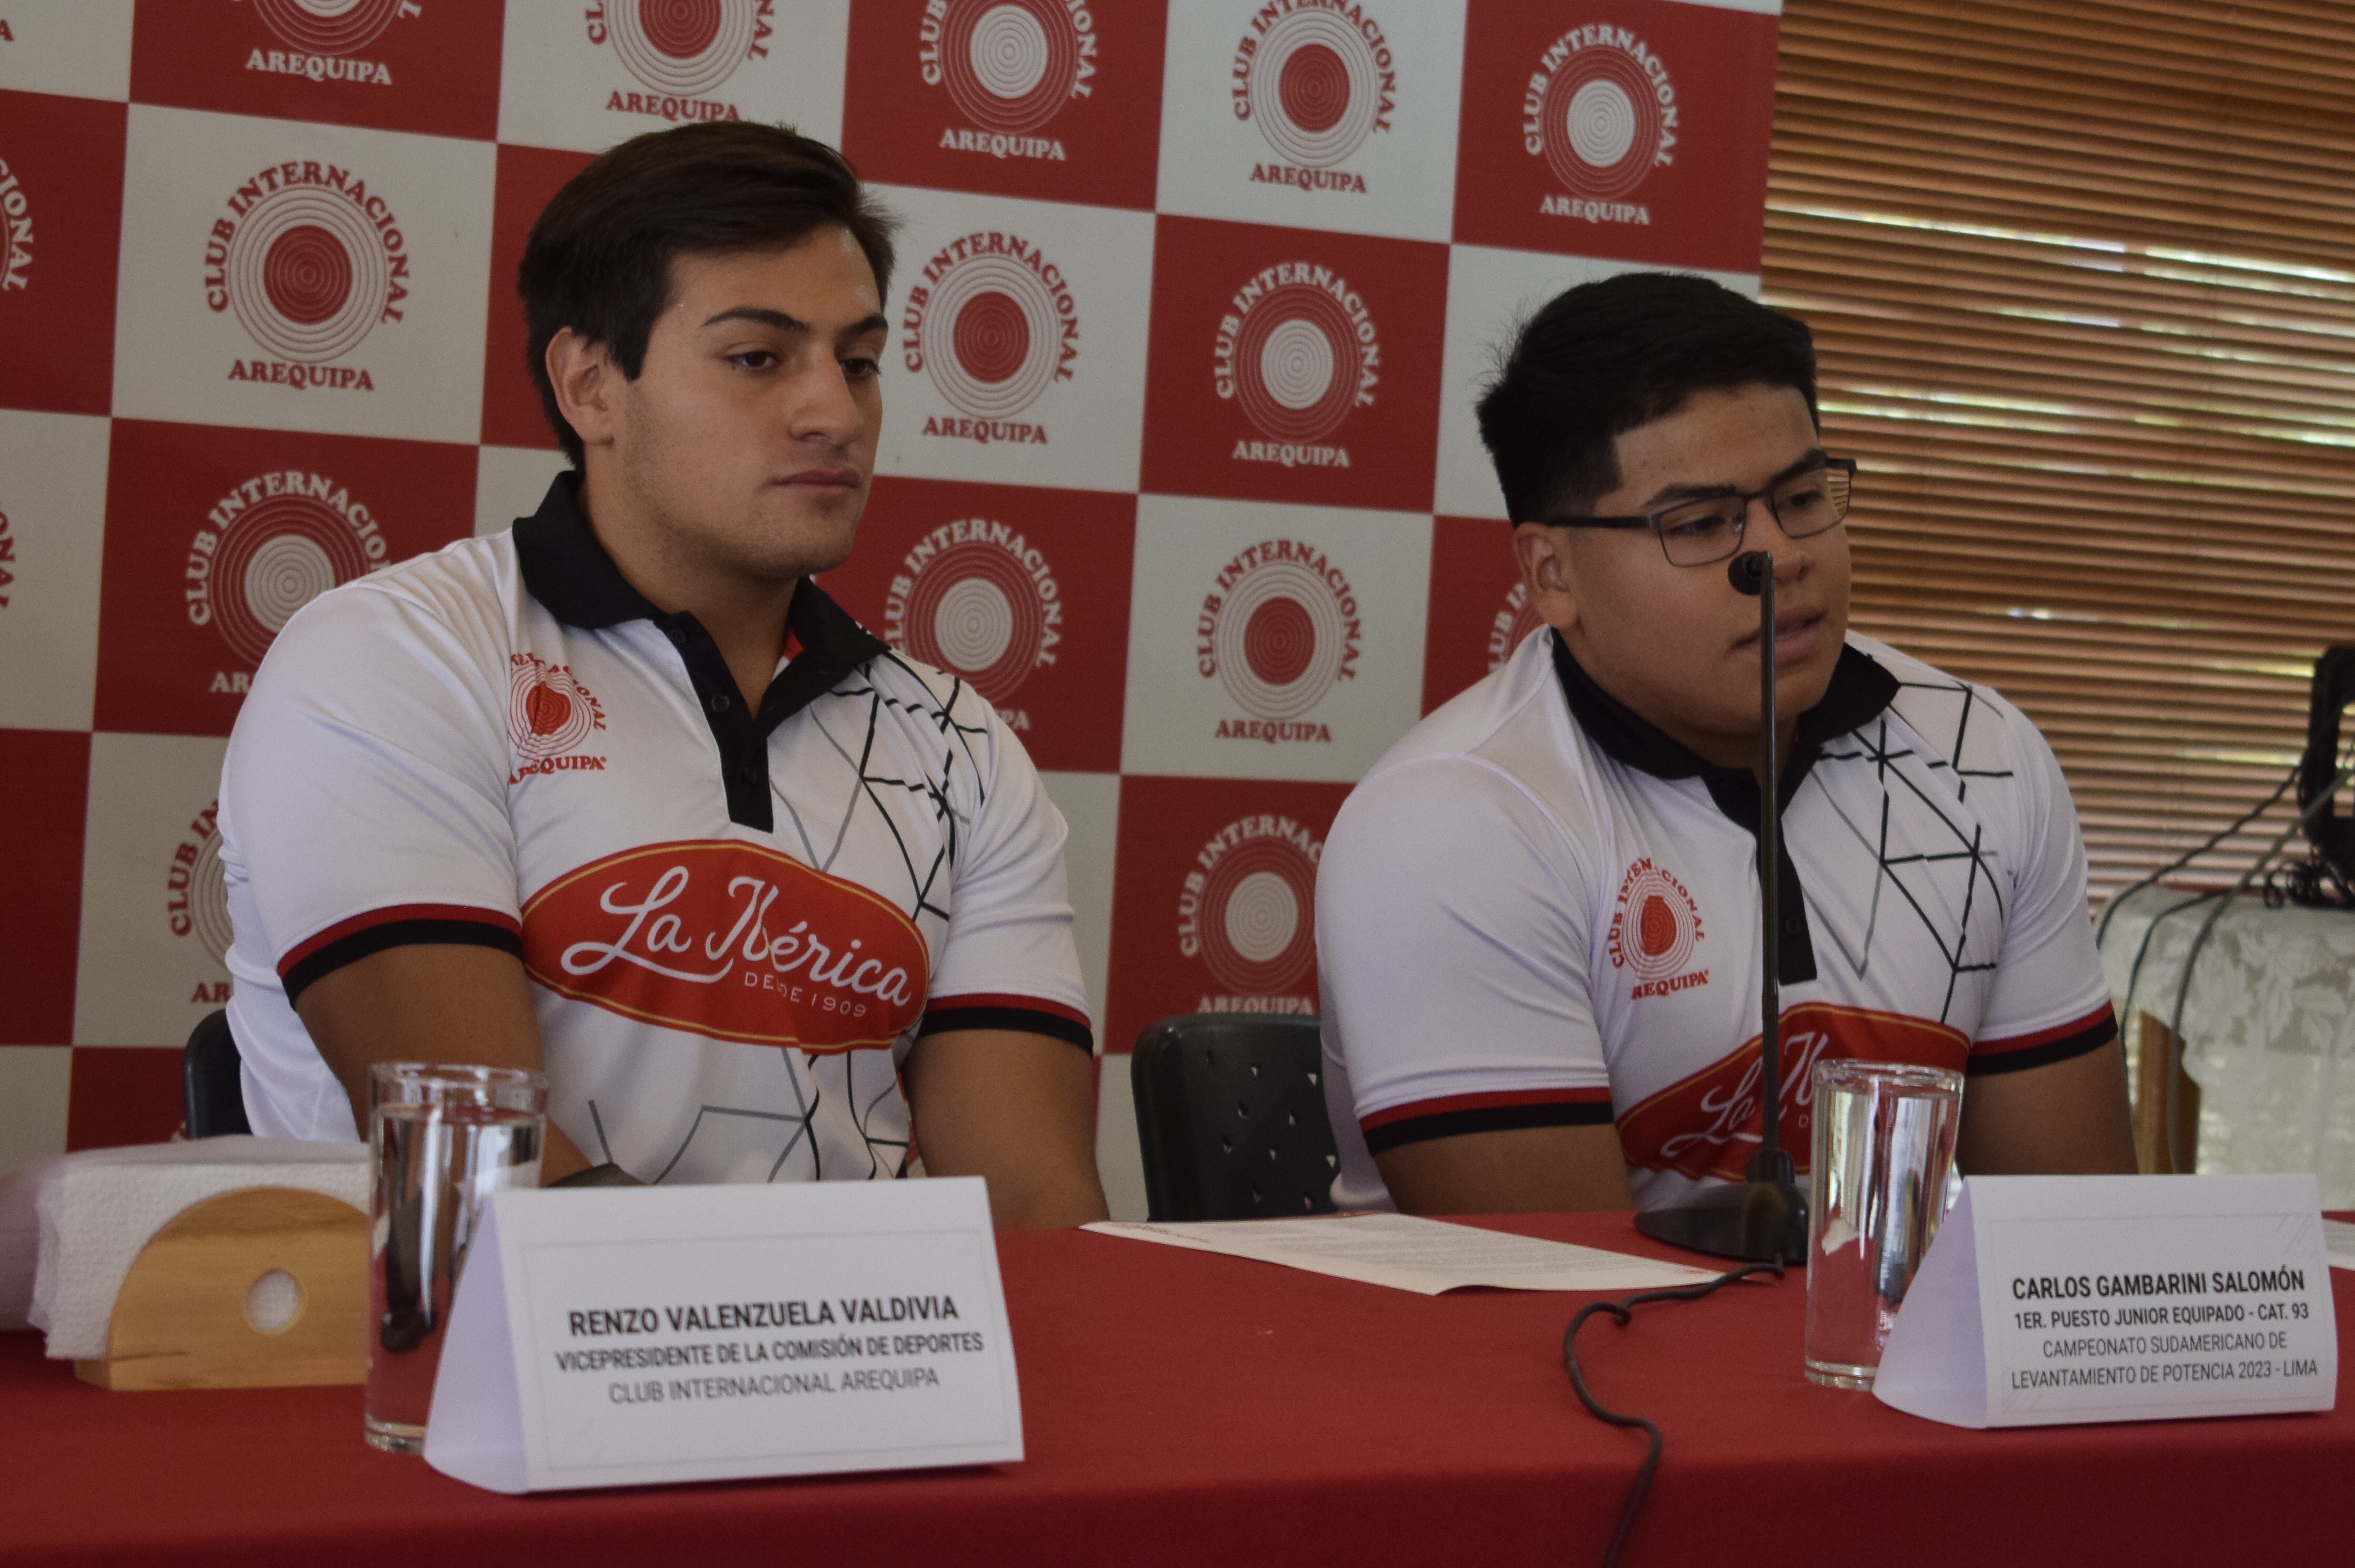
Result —
M 1095 1064 L 1067 1041 L 954 1029 L 902 1069 L 928 1175 L 989 1180 L 1001 1229 L 1109 1220 L 1095 1175 Z

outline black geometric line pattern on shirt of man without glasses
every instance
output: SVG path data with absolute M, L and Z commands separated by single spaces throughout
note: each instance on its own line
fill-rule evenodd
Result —
M 918 692 L 923 692 L 926 697 L 933 695 L 930 683 L 921 673 L 909 669 L 897 655 L 883 655 L 883 659 L 895 669 L 900 669 L 907 676 L 909 685 L 914 685 Z M 801 810 L 794 805 L 794 800 L 787 798 L 784 789 L 770 782 L 770 796 L 780 805 L 784 805 L 784 812 L 794 824 L 794 833 L 801 838 L 803 855 L 808 855 L 810 864 L 817 866 L 820 871 L 834 869 L 834 859 L 841 855 L 843 843 L 848 843 L 850 838 L 850 826 L 857 819 L 860 803 L 864 800 L 867 805 L 871 805 L 876 817 L 890 831 L 893 845 L 900 850 L 900 864 L 907 871 L 909 892 L 904 906 L 909 921 L 916 921 L 926 913 L 940 921 L 949 918 L 949 911 L 935 904 L 933 895 L 940 888 L 940 878 L 956 864 L 958 845 L 966 841 L 970 829 L 966 815 L 958 812 L 956 803 L 949 798 L 949 782 L 956 777 L 958 753 L 963 753 L 966 768 L 975 777 L 975 791 L 980 791 L 982 770 L 977 758 L 973 756 L 973 744 L 977 737 L 984 737 L 989 732 L 989 725 L 987 723 L 968 725 L 956 718 L 954 709 L 963 695 L 966 695 L 966 683 L 951 676 L 947 699 L 909 702 L 907 697 L 885 692 L 874 680 L 871 666 L 862 666 L 860 671 L 845 676 L 843 685 L 836 685 L 831 692 L 827 692 L 827 697 L 838 697 L 845 702 L 862 704 L 864 735 L 860 735 L 855 749 L 845 746 L 843 739 L 834 735 L 834 730 L 827 725 L 827 711 L 824 711 L 827 704 L 812 702 L 808 709 L 803 709 L 803 716 L 812 725 L 817 725 L 817 732 L 827 737 L 827 744 L 834 746 L 836 756 L 841 756 L 843 763 L 850 765 L 853 775 L 853 786 L 843 800 L 843 817 L 841 822 L 836 822 L 834 843 L 824 852 L 820 852 L 817 845 L 812 843 L 810 829 L 801 819 Z M 911 713 L 942 737 L 937 777 L 904 779 L 897 775 L 874 772 L 869 768 L 874 763 L 876 735 L 885 713 Z M 933 852 L 933 862 L 921 871 L 916 866 L 916 857 L 909 852 L 907 836 L 900 831 L 900 822 L 885 805 L 885 796 L 893 793 L 904 798 L 930 800 L 933 819 L 944 824 L 942 843 Z M 975 798 L 975 808 L 982 805 L 987 803 Z M 885 1057 L 890 1074 L 885 1076 L 883 1085 L 874 1092 L 874 1097 L 867 1099 L 867 1104 L 862 1107 L 860 1095 L 855 1090 L 857 1062 L 874 1055 Z M 810 1064 L 810 1057 L 796 1048 L 784 1048 L 777 1052 L 777 1057 L 784 1062 L 787 1083 L 794 1090 L 794 1104 L 798 1104 L 801 1111 L 784 1114 L 784 1111 L 756 1111 L 749 1107 L 704 1104 L 697 1109 L 695 1123 L 688 1128 L 685 1140 L 681 1140 L 678 1151 L 671 1154 L 671 1161 L 662 1168 L 662 1175 L 657 1175 L 655 1182 L 662 1182 L 664 1175 L 678 1168 L 678 1161 L 685 1158 L 688 1147 L 695 1144 L 695 1135 L 702 1130 L 706 1114 L 794 1123 L 794 1135 L 787 1140 L 784 1149 L 777 1151 L 777 1158 L 768 1170 L 768 1180 L 770 1182 L 777 1180 L 777 1172 L 784 1170 L 787 1158 L 791 1158 L 794 1149 L 798 1149 L 803 1142 L 808 1142 L 810 1147 L 810 1180 L 824 1177 L 824 1161 L 817 1144 L 817 1107 L 824 1102 L 824 1090 L 817 1083 L 817 1069 Z M 867 1144 L 864 1180 L 874 1180 L 878 1175 L 893 1180 L 904 1177 L 911 1156 L 909 1140 L 883 1137 L 869 1125 L 876 1114 L 876 1107 L 883 1104 L 900 1083 L 897 1062 L 890 1059 L 890 1052 L 876 1052 L 876 1050 L 845 1050 L 834 1059 L 843 1062 L 843 1104 L 850 1111 L 850 1125 L 857 1128 L 860 1142 Z

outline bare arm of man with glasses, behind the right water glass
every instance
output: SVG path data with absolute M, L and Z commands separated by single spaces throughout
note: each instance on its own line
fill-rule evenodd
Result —
M 2134 1175 L 2127 1052 L 1971 1078 L 1962 1090 L 1964 1175 Z

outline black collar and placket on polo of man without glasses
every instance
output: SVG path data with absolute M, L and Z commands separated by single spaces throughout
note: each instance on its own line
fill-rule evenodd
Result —
M 881 638 L 843 612 L 824 589 L 803 577 L 784 610 L 789 664 L 768 683 L 761 709 L 749 711 L 718 643 L 690 612 L 657 610 L 622 577 L 579 509 L 579 476 L 558 473 L 539 511 L 516 520 L 516 560 L 523 586 L 565 626 L 603 631 L 622 622 L 652 622 L 671 638 L 721 749 L 728 819 L 763 833 L 777 826 L 768 796 L 768 737 L 876 655 Z

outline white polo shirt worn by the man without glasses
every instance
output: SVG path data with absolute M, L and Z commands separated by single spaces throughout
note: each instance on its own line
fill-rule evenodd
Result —
M 320 596 L 261 662 L 219 817 L 254 1132 L 358 1135 L 304 986 L 469 942 L 525 963 L 551 1114 L 591 1161 L 918 1175 L 918 1036 L 1093 1050 L 1062 817 L 989 702 L 810 582 L 747 713 L 575 494 L 563 476 L 506 534 Z

